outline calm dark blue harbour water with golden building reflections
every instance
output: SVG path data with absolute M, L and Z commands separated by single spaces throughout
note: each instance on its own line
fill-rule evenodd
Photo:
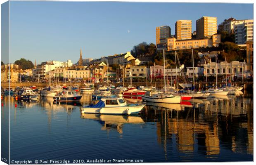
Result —
M 252 94 L 147 103 L 135 116 L 81 114 L 91 101 L 90 94 L 81 104 L 6 96 L 1 118 L 10 106 L 10 160 L 253 161 Z

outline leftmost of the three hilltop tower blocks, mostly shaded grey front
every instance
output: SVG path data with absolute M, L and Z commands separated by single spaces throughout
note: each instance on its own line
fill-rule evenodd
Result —
M 171 28 L 169 26 L 156 27 L 156 45 L 166 44 L 166 38 L 171 37 Z

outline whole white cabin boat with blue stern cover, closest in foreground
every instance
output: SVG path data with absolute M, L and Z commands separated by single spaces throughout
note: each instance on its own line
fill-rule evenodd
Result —
M 140 113 L 145 104 L 127 104 L 122 97 L 102 98 L 97 104 L 81 108 L 81 113 L 130 115 Z

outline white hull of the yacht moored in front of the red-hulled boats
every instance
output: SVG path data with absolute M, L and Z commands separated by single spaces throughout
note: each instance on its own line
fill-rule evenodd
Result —
M 159 97 L 153 98 L 149 96 L 141 96 L 142 100 L 155 102 L 155 103 L 180 103 L 181 97 L 179 96 L 172 96 L 172 97 Z

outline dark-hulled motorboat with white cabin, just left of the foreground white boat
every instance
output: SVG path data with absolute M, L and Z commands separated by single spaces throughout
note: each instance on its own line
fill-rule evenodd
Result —
M 82 95 L 77 94 L 75 91 L 63 91 L 53 97 L 57 102 L 79 102 Z

